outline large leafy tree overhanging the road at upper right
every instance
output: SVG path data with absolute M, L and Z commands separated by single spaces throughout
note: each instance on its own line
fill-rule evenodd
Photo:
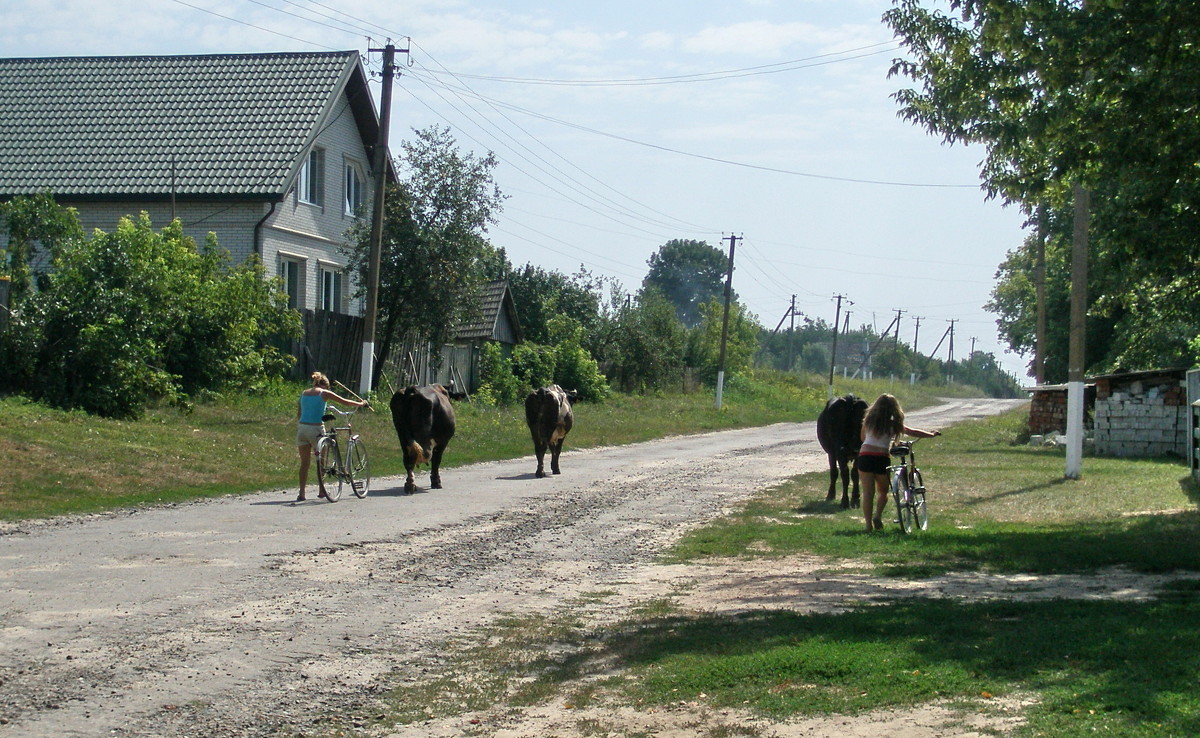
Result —
M 1194 360 L 1194 2 L 950 0 L 949 7 L 953 17 L 901 0 L 884 14 L 911 54 L 893 73 L 922 84 L 896 92 L 901 114 L 947 142 L 983 144 L 989 196 L 1027 212 L 1064 212 L 1074 182 L 1093 191 L 1090 259 L 1102 278 L 1090 277 L 1090 319 L 1117 326 L 1105 350 L 1088 347 L 1093 370 Z M 1066 236 L 1069 218 L 1052 222 L 1052 235 Z M 1027 292 L 1000 290 L 997 304 Z M 1031 312 L 1021 306 L 1019 314 Z

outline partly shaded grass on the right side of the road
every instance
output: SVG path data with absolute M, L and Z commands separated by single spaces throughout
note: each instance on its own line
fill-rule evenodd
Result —
M 1082 480 L 1062 482 L 1061 451 L 1012 444 L 1018 418 L 955 426 L 929 442 L 924 534 L 904 536 L 894 526 L 862 533 L 856 512 L 823 502 L 818 473 L 692 532 L 670 560 L 816 553 L 833 559 L 830 568 L 865 560 L 880 577 L 1103 576 L 1110 566 L 1176 576 L 1146 598 L 906 598 L 847 602 L 834 614 L 726 616 L 656 601 L 616 625 L 589 624 L 581 602 L 476 634 L 451 650 L 440 678 L 391 692 L 380 718 L 408 722 L 553 700 L 787 720 L 937 701 L 968 714 L 1016 709 L 1019 734 L 1200 734 L 1200 580 L 1182 576 L 1200 571 L 1200 497 L 1186 467 L 1087 458 Z M 608 728 L 617 732 L 598 734 L 626 734 Z M 736 732 L 712 734 L 758 734 L 726 728 Z

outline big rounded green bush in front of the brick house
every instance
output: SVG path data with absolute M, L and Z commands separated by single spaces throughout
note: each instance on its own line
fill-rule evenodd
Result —
M 22 388 L 65 408 L 137 418 L 148 403 L 282 373 L 270 346 L 298 337 L 277 281 L 229 266 L 215 238 L 198 250 L 179 221 L 155 232 L 142 215 L 59 250 L 47 287 L 14 312 L 30 350 Z

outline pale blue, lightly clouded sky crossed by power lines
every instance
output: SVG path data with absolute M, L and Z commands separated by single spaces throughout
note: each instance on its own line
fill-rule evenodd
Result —
M 798 313 L 924 354 L 991 353 L 983 306 L 1025 238 L 979 188 L 982 148 L 898 116 L 890 0 L 2 0 L 0 55 L 370 49 L 398 55 L 391 149 L 431 125 L 493 151 L 488 236 L 517 266 L 581 268 L 636 292 L 672 239 L 728 252 L 774 328 Z M 380 101 L 378 74 L 373 83 Z M 919 328 L 918 328 L 919 318 Z M 952 320 L 954 323 L 952 323 Z M 894 330 L 894 328 L 893 328 Z

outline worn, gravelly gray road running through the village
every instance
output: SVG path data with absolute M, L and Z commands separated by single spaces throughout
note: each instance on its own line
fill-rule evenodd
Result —
M 910 416 L 947 427 L 1013 404 Z M 823 468 L 815 438 L 781 424 L 569 450 L 544 480 L 523 458 L 413 496 L 388 478 L 337 504 L 289 490 L 5 528 L 0 736 L 305 733 L 498 613 L 636 580 L 686 528 Z

